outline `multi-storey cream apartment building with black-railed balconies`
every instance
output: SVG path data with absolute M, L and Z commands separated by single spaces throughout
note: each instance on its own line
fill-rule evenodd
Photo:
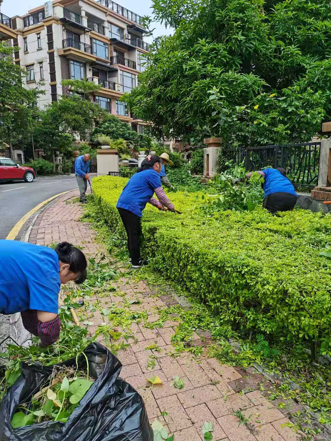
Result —
M 4 22 L 0 38 L 6 28 L 7 37 L 19 46 L 14 62 L 26 69 L 26 87 L 44 82 L 40 108 L 69 93 L 62 79 L 86 79 L 101 85 L 93 96 L 96 104 L 143 130 L 144 123 L 118 101 L 145 69 L 149 45 L 138 14 L 111 0 L 53 0 Z

